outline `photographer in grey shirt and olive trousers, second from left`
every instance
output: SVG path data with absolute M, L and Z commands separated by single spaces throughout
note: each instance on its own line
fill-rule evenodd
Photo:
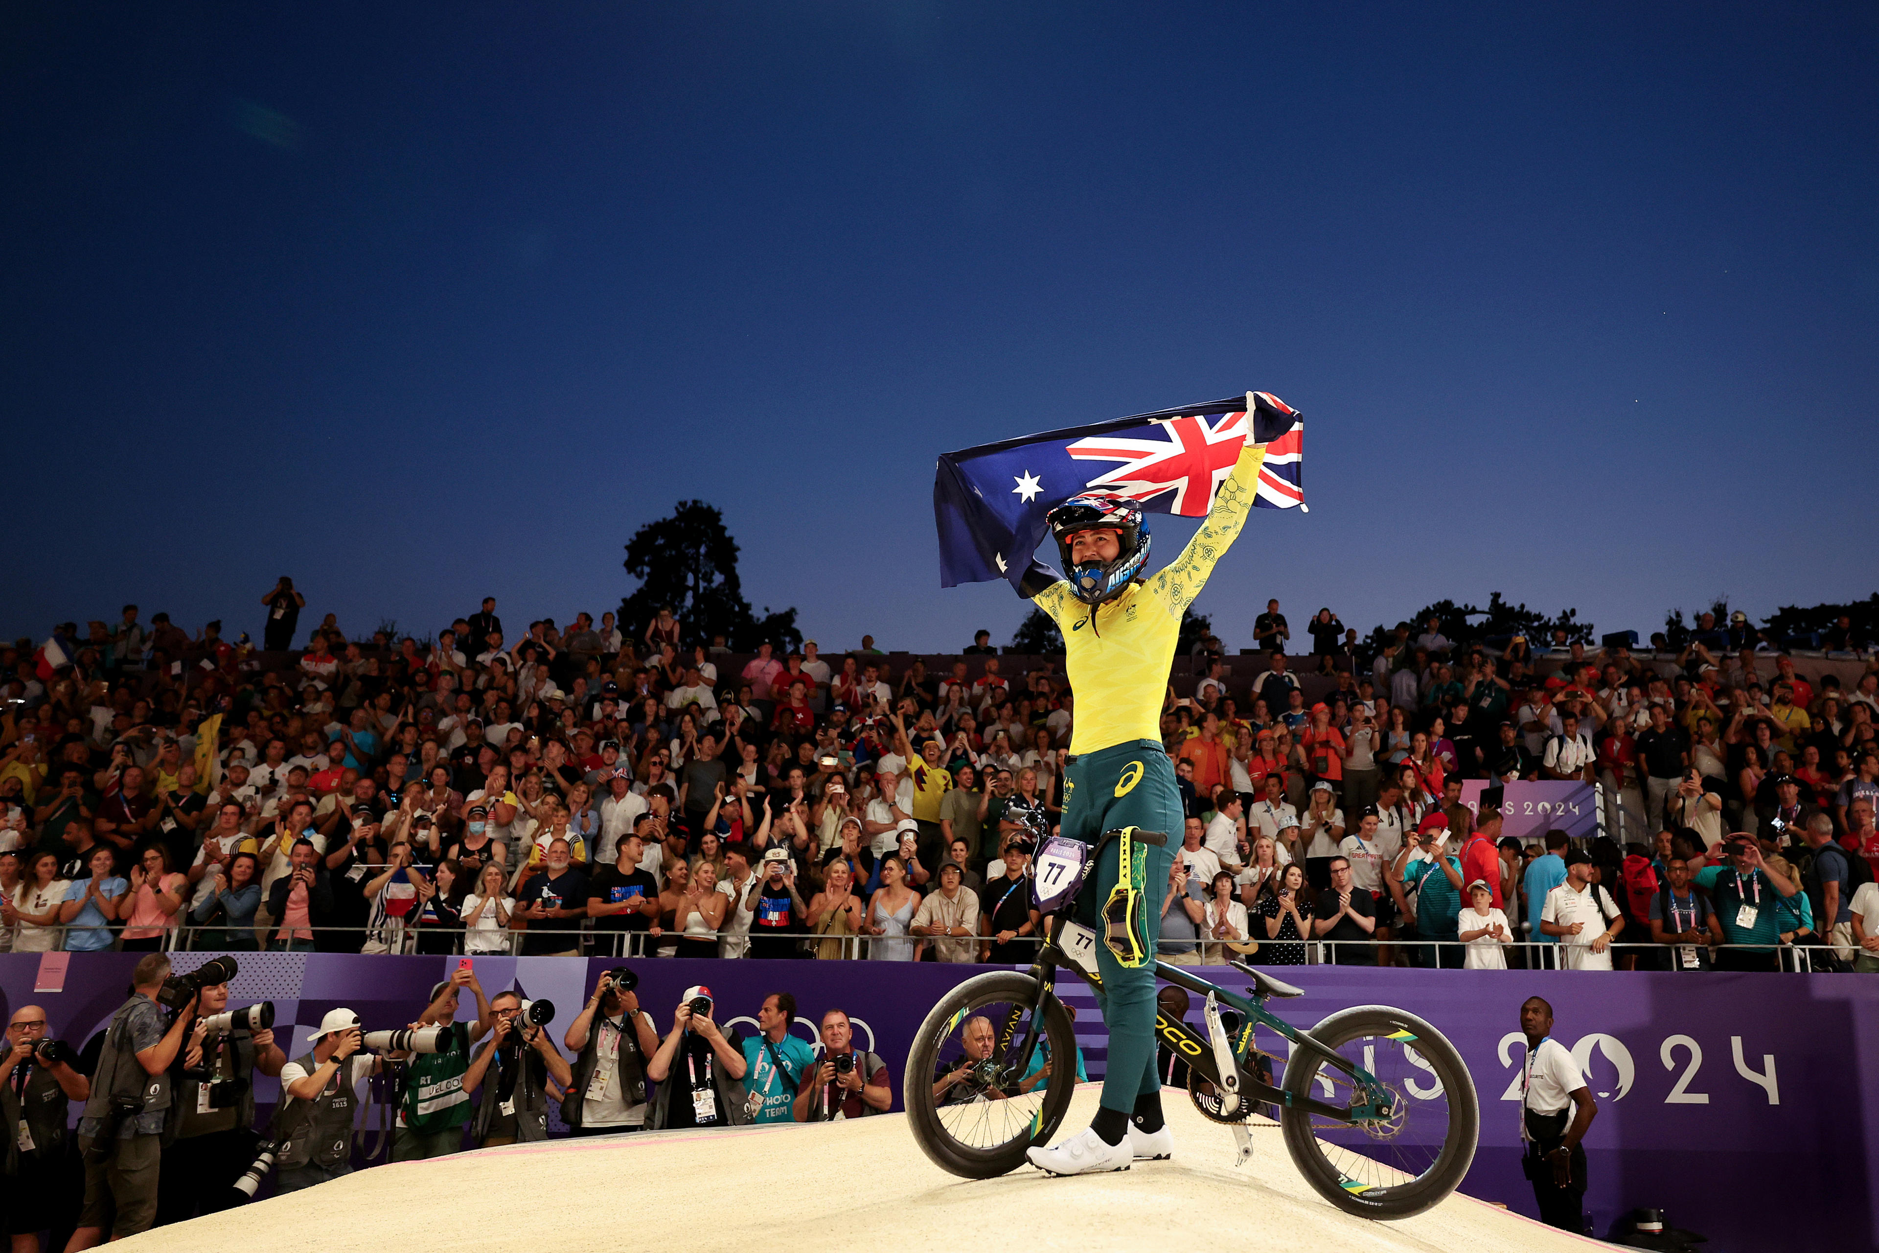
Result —
M 192 994 L 171 1022 L 156 996 L 169 979 L 169 958 L 152 952 L 132 971 L 132 998 L 111 1014 L 92 1071 L 92 1091 L 79 1120 L 85 1155 L 85 1212 L 68 1249 L 88 1249 L 148 1230 L 156 1219 L 156 1180 L 169 1112 L 169 1067 L 195 1018 Z

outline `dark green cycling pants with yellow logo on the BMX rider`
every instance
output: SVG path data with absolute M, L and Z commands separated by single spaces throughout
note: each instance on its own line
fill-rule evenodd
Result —
M 1077 917 L 1095 926 L 1095 967 L 1103 979 L 1097 1003 L 1109 1028 L 1109 1073 L 1103 1078 L 1103 1108 L 1129 1114 L 1135 1097 L 1157 1091 L 1156 1075 L 1156 941 L 1161 939 L 1161 898 L 1167 894 L 1169 866 L 1182 838 L 1180 791 L 1167 750 L 1154 740 L 1116 744 L 1071 757 L 1064 770 L 1062 834 L 1095 843 L 1105 830 L 1137 827 L 1167 836 L 1167 843 L 1133 845 L 1129 874 L 1139 900 L 1137 939 L 1146 954 L 1142 966 L 1124 966 L 1105 943 L 1101 909 L 1120 883 L 1120 842 L 1103 847 L 1092 883 L 1077 902 Z

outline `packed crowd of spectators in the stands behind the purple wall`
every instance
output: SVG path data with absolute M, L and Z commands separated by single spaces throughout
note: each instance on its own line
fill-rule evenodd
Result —
M 263 648 L 133 605 L 0 656 L 0 943 L 1022 962 L 1075 693 L 814 641 L 733 656 L 669 611 Z M 1270 603 L 1171 682 L 1188 821 L 1171 962 L 1879 969 L 1879 663 L 1841 688 L 1699 624 L 1678 654 L 1402 624 L 1310 654 Z M 1302 650 L 1300 650 L 1302 652 Z M 1242 659 L 1244 665 L 1244 659 Z M 1464 806 L 1462 785 L 1490 785 Z M 1494 785 L 1603 785 L 1595 840 Z M 1548 847 L 1552 845 L 1552 847 Z M 1806 962 L 1787 949 L 1806 949 Z

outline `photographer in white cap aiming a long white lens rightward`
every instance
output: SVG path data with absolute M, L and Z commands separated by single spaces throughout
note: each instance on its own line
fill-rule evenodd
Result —
M 359 1082 L 383 1069 L 383 1061 L 361 1052 L 363 1048 L 359 1014 L 331 1009 L 314 1033 L 314 1050 L 280 1067 L 280 1105 L 274 1110 L 274 1138 L 282 1140 L 276 1197 L 351 1174 Z

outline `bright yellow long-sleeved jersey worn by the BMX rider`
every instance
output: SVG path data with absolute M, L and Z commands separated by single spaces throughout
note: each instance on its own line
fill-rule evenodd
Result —
M 1077 693 L 1069 751 L 1095 753 L 1114 744 L 1161 738 L 1161 697 L 1174 663 L 1180 618 L 1246 526 L 1265 456 L 1265 445 L 1248 443 L 1240 451 L 1233 473 L 1214 494 L 1214 507 L 1182 554 L 1146 582 L 1133 582 L 1122 596 L 1099 605 L 1094 629 L 1090 607 L 1071 596 L 1069 582 L 1060 579 L 1032 597 L 1064 633 L 1064 669 Z

